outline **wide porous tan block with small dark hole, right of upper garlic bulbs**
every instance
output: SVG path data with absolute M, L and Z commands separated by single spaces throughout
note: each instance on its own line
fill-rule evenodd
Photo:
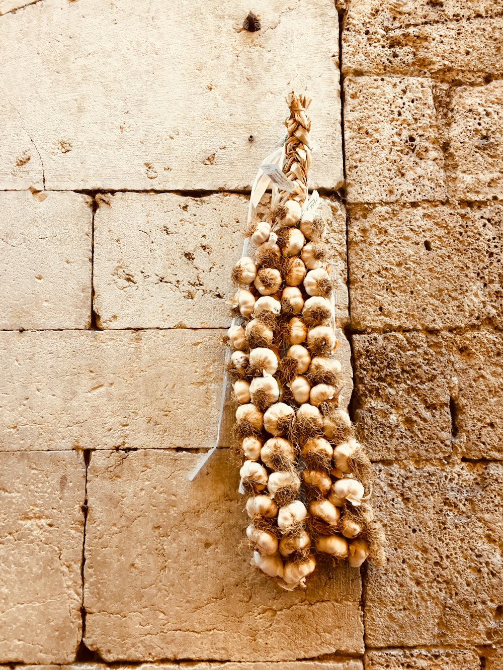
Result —
M 348 232 L 355 328 L 503 323 L 500 204 L 353 206 Z

